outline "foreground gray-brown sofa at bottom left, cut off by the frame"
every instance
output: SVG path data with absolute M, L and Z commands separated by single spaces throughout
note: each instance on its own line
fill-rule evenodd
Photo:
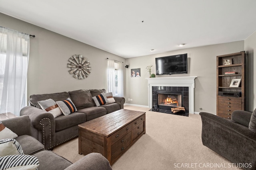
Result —
M 20 116 L 3 120 L 2 123 L 16 133 L 15 138 L 20 144 L 24 154 L 38 158 L 38 170 L 112 170 L 108 160 L 99 153 L 90 153 L 72 164 L 65 158 L 50 150 L 31 136 L 31 124 L 28 116 Z

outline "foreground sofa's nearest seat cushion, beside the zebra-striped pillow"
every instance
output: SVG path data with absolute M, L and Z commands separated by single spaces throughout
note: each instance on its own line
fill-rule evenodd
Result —
M 39 160 L 38 170 L 64 170 L 72 163 L 50 150 L 34 154 Z

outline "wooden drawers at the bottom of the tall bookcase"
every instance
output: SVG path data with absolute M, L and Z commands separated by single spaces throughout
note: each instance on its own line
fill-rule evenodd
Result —
M 232 112 L 242 109 L 241 98 L 218 96 L 218 116 L 231 119 Z

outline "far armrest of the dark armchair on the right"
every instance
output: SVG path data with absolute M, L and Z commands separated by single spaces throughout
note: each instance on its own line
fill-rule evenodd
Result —
M 244 110 L 235 110 L 232 112 L 231 120 L 246 127 L 249 127 L 251 116 L 252 112 Z

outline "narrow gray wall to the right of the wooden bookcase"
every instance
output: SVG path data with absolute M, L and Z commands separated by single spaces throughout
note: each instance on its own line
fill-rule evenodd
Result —
M 244 41 L 246 52 L 246 110 L 253 111 L 256 108 L 256 32 Z

